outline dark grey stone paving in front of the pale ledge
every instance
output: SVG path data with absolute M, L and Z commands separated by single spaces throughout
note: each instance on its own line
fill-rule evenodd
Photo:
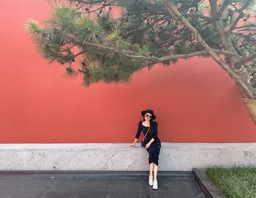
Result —
M 205 197 L 191 172 L 159 172 L 158 190 L 148 172 L 0 172 L 0 198 Z

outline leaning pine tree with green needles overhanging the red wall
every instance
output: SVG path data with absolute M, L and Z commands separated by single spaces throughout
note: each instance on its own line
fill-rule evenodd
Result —
M 236 82 L 256 123 L 255 0 L 51 2 L 48 20 L 29 20 L 26 28 L 44 58 L 69 76 L 83 75 L 87 87 L 129 83 L 143 67 L 211 56 Z

